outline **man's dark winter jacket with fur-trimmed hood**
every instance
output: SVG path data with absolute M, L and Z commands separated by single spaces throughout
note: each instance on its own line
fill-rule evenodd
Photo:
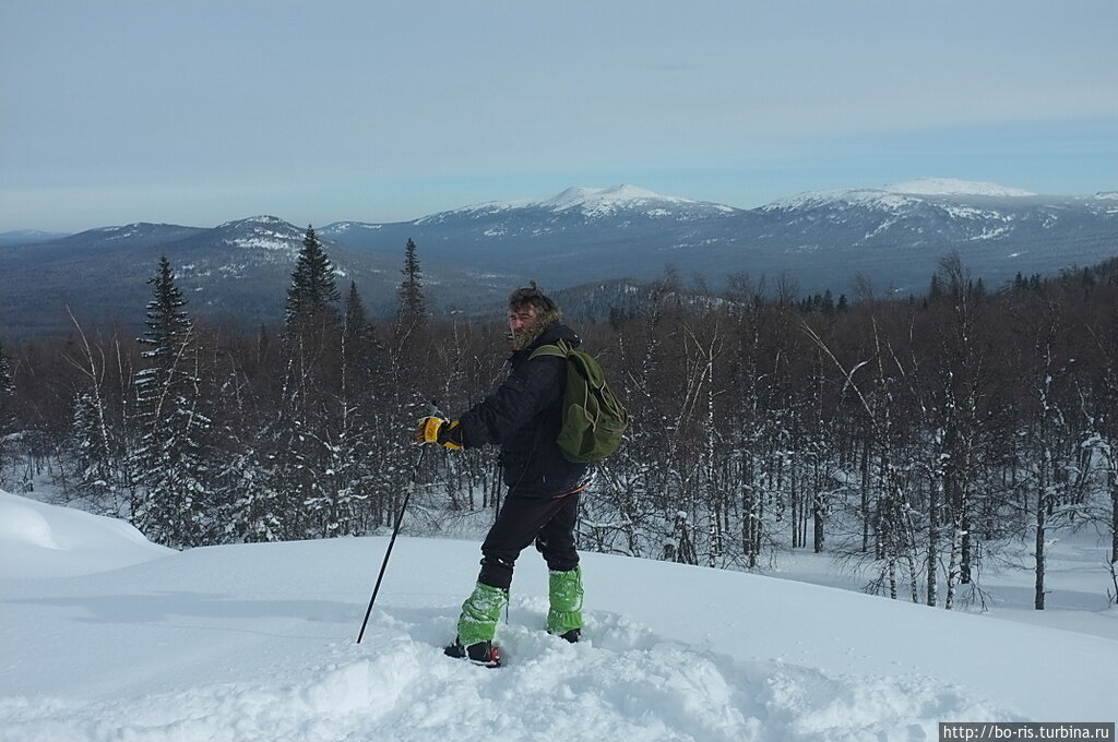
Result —
M 552 322 L 528 348 L 509 359 L 512 372 L 496 391 L 462 416 L 466 447 L 495 444 L 509 494 L 553 497 L 576 489 L 586 478 L 586 464 L 563 458 L 556 445 L 562 427 L 567 362 L 553 355 L 528 360 L 540 345 L 565 340 L 581 343 L 574 330 Z

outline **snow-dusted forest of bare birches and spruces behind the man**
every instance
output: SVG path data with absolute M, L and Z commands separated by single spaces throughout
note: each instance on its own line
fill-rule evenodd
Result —
M 75 318 L 0 345 L 0 487 L 49 482 L 176 548 L 383 533 L 408 492 L 404 533 L 480 535 L 494 451 L 413 434 L 502 381 L 503 307 L 440 315 L 415 242 L 402 257 L 391 317 L 337 285 L 309 229 L 276 326 L 193 317 L 163 258 L 141 337 Z M 950 609 L 1026 544 L 1043 609 L 1053 531 L 1093 529 L 1118 600 L 1118 259 L 992 289 L 953 254 L 919 297 L 726 286 L 666 270 L 639 301 L 618 284 L 568 307 L 632 419 L 581 549 L 740 570 L 813 550 Z

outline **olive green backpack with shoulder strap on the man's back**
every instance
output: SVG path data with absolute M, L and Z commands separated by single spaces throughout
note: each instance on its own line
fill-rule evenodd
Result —
M 606 383 L 594 356 L 565 341 L 540 345 L 529 356 L 556 355 L 567 360 L 567 389 L 562 400 L 562 428 L 556 443 L 568 462 L 600 462 L 617 450 L 628 428 L 628 412 Z

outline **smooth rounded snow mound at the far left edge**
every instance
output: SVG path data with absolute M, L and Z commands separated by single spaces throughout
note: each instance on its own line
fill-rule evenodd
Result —
M 123 521 L 0 492 L 0 577 L 91 574 L 173 553 Z

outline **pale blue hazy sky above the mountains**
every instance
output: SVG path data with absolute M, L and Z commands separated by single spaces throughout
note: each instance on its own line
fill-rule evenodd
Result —
M 0 0 L 0 231 L 1118 190 L 1112 0 Z

